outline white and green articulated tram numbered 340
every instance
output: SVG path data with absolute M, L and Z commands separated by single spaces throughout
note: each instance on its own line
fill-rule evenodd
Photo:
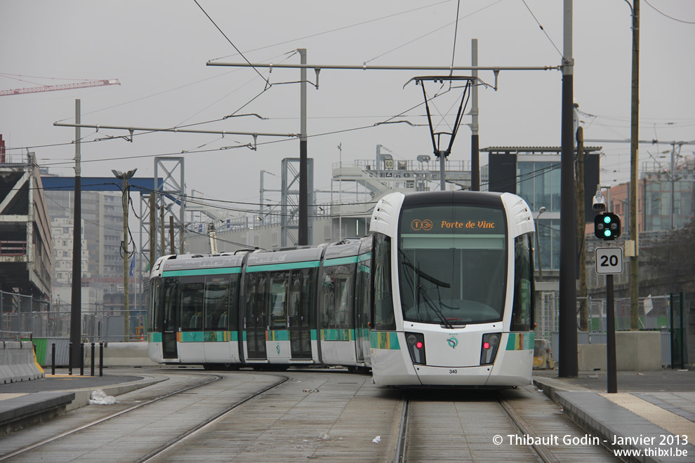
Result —
M 529 384 L 533 233 L 513 194 L 392 193 L 363 239 L 164 256 L 150 279 L 150 357 L 371 368 L 384 386 Z

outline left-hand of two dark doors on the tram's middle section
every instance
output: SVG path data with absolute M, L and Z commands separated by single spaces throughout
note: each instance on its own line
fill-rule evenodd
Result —
M 262 272 L 254 272 L 246 275 L 246 314 L 244 326 L 246 328 L 246 351 L 250 359 L 258 360 L 267 358 L 265 350 L 265 337 L 267 319 L 265 313 L 265 297 L 267 293 L 267 276 Z

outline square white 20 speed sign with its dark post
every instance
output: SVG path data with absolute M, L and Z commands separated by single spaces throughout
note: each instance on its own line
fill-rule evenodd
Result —
M 613 294 L 613 275 L 623 273 L 623 248 L 596 248 L 596 273 L 606 275 L 606 366 L 608 392 L 618 392 L 618 368 L 616 362 L 616 311 Z

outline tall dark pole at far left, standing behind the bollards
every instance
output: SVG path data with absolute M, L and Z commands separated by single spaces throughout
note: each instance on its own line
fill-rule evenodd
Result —
M 80 100 L 75 100 L 75 123 L 80 121 Z M 70 302 L 70 343 L 72 344 L 72 368 L 79 367 L 76 354 L 82 333 L 82 177 L 81 177 L 81 135 L 79 126 L 75 127 L 75 197 L 74 218 L 72 220 L 72 300 Z

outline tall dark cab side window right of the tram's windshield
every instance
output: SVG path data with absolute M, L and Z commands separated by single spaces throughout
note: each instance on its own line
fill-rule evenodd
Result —
M 534 260 L 531 235 L 514 240 L 514 302 L 510 331 L 531 331 L 534 323 Z

